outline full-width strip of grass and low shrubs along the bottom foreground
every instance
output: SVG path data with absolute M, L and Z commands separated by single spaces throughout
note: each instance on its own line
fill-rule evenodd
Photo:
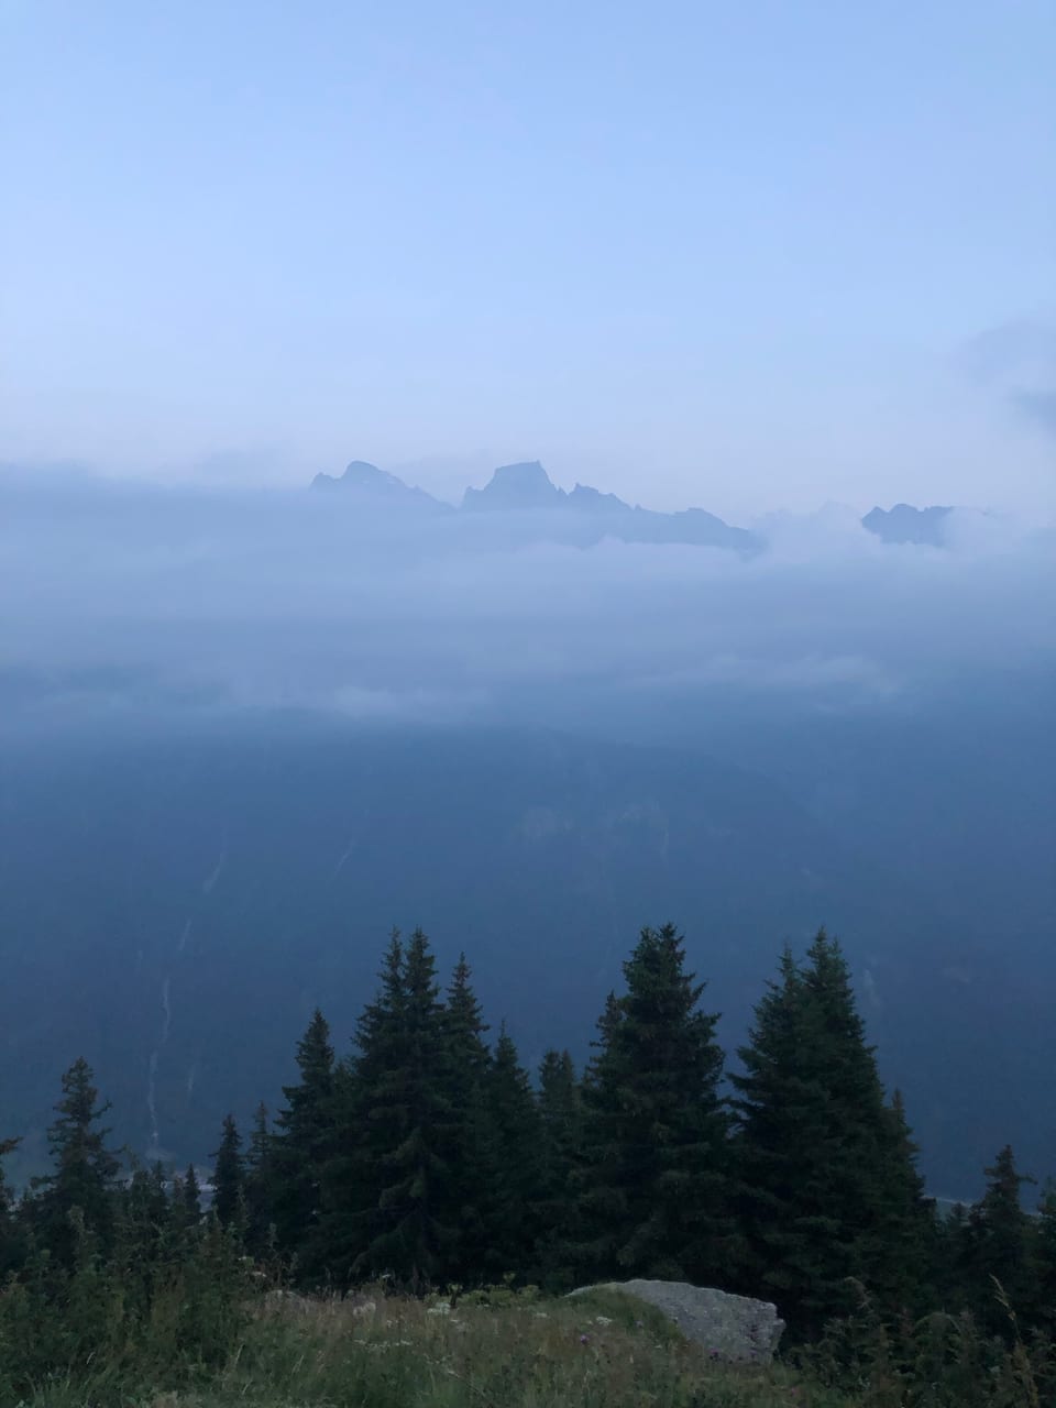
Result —
M 1014 1324 L 1008 1342 L 987 1339 L 966 1316 L 893 1328 L 865 1297 L 797 1364 L 770 1369 L 724 1364 L 614 1291 L 273 1290 L 228 1314 L 222 1353 L 196 1326 L 193 1305 L 162 1297 L 137 1336 L 111 1332 L 87 1354 L 79 1340 L 77 1359 L 3 1408 L 1056 1408 L 1050 1343 Z

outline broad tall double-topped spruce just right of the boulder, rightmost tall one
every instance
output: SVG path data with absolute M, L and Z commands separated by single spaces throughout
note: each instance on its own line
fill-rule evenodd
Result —
M 911 1269 L 895 1263 L 919 1215 L 911 1142 L 886 1107 L 846 960 L 824 929 L 803 966 L 786 948 L 739 1056 L 745 1288 L 773 1294 L 801 1335 L 850 1309 L 850 1277 L 910 1300 Z

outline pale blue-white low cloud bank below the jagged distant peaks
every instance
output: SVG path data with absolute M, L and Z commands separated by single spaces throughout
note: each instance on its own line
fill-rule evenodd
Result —
M 0 476 L 8 728 L 127 712 L 324 710 L 548 718 L 562 690 L 824 707 L 1035 667 L 1056 643 L 1050 528 L 967 511 L 946 546 L 883 543 L 829 507 L 710 548 L 525 541 L 307 493 Z

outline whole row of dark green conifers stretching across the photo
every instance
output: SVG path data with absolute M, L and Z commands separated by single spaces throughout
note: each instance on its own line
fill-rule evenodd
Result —
M 275 1119 L 260 1105 L 244 1139 L 230 1115 L 207 1180 L 124 1166 L 77 1060 L 51 1171 L 17 1198 L 0 1171 L 0 1276 L 38 1308 L 86 1269 L 151 1305 L 246 1259 L 311 1290 L 660 1277 L 773 1300 L 803 1340 L 866 1287 L 888 1316 L 1056 1328 L 1056 1187 L 1028 1211 L 1005 1148 L 941 1215 L 834 938 L 784 950 L 729 1073 L 674 926 L 641 932 L 624 980 L 586 1069 L 549 1050 L 532 1080 L 505 1028 L 489 1041 L 465 957 L 442 987 L 427 936 L 394 934 L 353 1049 L 315 1011 Z

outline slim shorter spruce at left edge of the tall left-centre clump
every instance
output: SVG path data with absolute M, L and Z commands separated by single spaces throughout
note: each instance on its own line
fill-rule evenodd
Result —
M 279 1247 L 296 1256 L 301 1280 L 311 1283 L 322 1274 L 322 1177 L 335 1126 L 334 1048 L 318 1008 L 297 1042 L 297 1071 L 298 1081 L 283 1087 L 268 1183 Z

